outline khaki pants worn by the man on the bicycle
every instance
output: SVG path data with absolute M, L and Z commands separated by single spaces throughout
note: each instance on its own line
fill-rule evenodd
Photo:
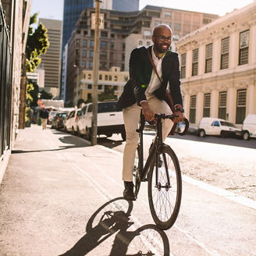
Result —
M 155 96 L 147 97 L 148 105 L 155 113 L 172 114 L 172 110 L 165 101 L 160 101 Z M 123 120 L 126 128 L 126 146 L 123 151 L 123 180 L 133 180 L 133 165 L 139 141 L 139 133 L 136 129 L 140 124 L 140 109 L 137 103 L 123 109 Z M 172 129 L 172 120 L 162 120 L 162 139 L 163 141 Z

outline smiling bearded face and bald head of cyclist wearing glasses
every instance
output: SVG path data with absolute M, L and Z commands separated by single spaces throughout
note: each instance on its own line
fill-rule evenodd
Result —
M 172 32 L 167 27 L 157 30 L 152 36 L 155 50 L 159 53 L 165 53 L 172 44 Z

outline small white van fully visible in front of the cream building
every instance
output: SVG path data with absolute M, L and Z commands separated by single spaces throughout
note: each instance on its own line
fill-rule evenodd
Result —
M 199 123 L 198 135 L 216 135 L 220 137 L 236 137 L 241 130 L 233 123 L 226 122 L 224 119 L 203 117 Z

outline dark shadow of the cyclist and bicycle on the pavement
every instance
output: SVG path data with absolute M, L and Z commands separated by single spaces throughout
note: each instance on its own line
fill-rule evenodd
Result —
M 122 201 L 126 202 L 126 209 L 123 208 Z M 109 255 L 126 255 L 131 241 L 133 241 L 134 238 L 138 238 L 140 240 L 140 233 L 145 229 L 153 229 L 154 232 L 160 234 L 159 236 L 162 237 L 163 241 L 163 251 L 165 251 L 163 255 L 169 255 L 169 240 L 165 233 L 161 229 L 158 229 L 157 226 L 146 225 L 135 231 L 127 230 L 130 228 L 130 226 L 133 226 L 133 222 L 130 221 L 130 212 L 132 211 L 132 208 L 133 202 L 125 201 L 123 197 L 112 199 L 111 201 L 103 204 L 96 212 L 94 212 L 93 215 L 91 215 L 91 218 L 88 220 L 86 228 L 87 233 L 81 237 L 80 240 L 71 249 L 69 249 L 69 251 L 66 251 L 66 253 L 59 256 L 86 255 L 115 233 L 116 237 L 112 244 L 112 251 Z M 94 225 L 94 222 L 98 222 L 97 225 Z M 147 235 L 147 237 L 144 237 L 144 239 L 148 239 L 148 237 L 149 236 Z M 151 237 L 155 239 L 155 234 L 151 235 Z M 132 245 L 131 247 L 133 250 L 130 251 L 133 251 L 133 254 L 129 255 L 155 255 L 151 252 L 151 250 L 148 250 L 148 248 L 142 248 L 141 243 L 137 244 L 137 246 Z M 154 247 L 154 245 L 151 247 Z M 144 254 L 142 251 L 145 251 L 146 254 Z

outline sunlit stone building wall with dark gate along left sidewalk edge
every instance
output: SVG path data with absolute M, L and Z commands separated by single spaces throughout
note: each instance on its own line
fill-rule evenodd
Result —
M 31 1 L 0 1 L 0 183 L 24 120 L 26 67 L 24 53 Z M 23 115 L 20 116 L 20 110 Z M 22 128 L 22 127 L 21 127 Z

